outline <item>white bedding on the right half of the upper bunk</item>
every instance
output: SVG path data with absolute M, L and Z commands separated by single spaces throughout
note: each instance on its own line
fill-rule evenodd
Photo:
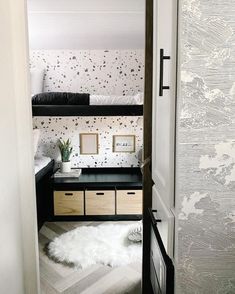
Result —
M 143 93 L 135 96 L 90 95 L 90 105 L 141 105 L 143 100 Z

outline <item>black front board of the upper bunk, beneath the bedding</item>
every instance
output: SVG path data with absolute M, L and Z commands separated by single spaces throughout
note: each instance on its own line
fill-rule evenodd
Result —
M 33 105 L 33 116 L 142 116 L 143 105 Z

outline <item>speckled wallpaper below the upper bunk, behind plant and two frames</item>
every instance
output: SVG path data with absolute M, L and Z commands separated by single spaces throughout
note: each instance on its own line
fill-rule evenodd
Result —
M 34 117 L 34 128 L 41 130 L 37 156 L 60 161 L 58 139 L 70 138 L 73 145 L 73 167 L 137 167 L 143 148 L 143 117 Z M 80 133 L 99 135 L 97 155 L 80 154 Z M 135 135 L 136 152 L 113 152 L 113 135 Z

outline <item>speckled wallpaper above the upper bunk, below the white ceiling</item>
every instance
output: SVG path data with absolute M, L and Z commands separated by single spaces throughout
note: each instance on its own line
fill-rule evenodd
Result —
M 45 92 L 144 92 L 144 50 L 36 50 L 30 66 L 45 69 Z

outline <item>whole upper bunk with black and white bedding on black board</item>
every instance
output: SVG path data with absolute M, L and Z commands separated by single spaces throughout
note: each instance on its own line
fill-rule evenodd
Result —
M 40 93 L 32 98 L 32 112 L 33 116 L 142 116 L 143 98 L 140 93 L 135 96 Z

